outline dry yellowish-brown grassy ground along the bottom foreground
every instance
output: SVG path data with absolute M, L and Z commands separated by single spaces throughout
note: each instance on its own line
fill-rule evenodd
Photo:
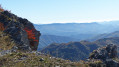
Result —
M 41 60 L 43 59 L 43 60 Z M 17 52 L 0 57 L 0 67 L 88 67 L 85 64 L 70 62 L 49 55 Z

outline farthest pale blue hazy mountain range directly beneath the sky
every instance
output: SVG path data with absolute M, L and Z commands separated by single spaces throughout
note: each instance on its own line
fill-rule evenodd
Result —
M 119 21 L 102 23 L 54 23 L 54 24 L 34 24 L 37 30 L 43 35 L 69 36 L 76 39 L 85 40 L 99 34 L 119 31 Z

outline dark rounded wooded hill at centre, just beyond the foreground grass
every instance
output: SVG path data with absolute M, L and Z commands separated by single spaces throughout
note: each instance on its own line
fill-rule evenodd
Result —
M 98 48 L 98 46 L 95 44 L 83 45 L 80 42 L 54 43 L 41 50 L 41 52 L 66 60 L 79 61 L 86 59 L 89 53 L 96 48 Z

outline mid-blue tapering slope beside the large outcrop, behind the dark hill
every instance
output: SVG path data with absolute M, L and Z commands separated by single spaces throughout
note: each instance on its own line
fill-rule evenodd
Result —
M 56 36 L 56 35 L 41 35 L 38 50 L 50 45 L 51 43 L 68 43 L 70 41 L 80 41 L 79 39 L 74 39 L 66 36 Z

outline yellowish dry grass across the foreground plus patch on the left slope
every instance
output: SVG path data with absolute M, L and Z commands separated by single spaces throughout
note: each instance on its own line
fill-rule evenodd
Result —
M 14 41 L 0 31 L 0 49 L 9 50 L 15 46 Z M 2 51 L 1 50 L 1 51 Z M 0 56 L 0 67 L 88 67 L 87 64 L 71 62 L 60 58 L 53 58 L 49 55 L 36 55 L 30 52 L 12 52 Z

